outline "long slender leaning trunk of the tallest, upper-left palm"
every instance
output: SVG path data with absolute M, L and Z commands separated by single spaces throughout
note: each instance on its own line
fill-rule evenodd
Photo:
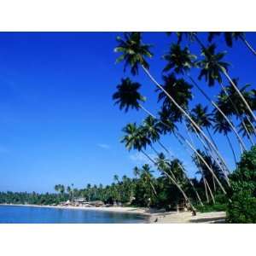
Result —
M 204 131 L 201 130 L 201 128 L 195 123 L 195 121 L 189 116 L 189 114 L 188 114 L 182 107 L 180 107 L 180 106 L 177 104 L 177 102 L 172 98 L 172 96 L 170 96 L 170 95 L 168 94 L 168 92 L 152 77 L 152 75 L 148 72 L 148 69 L 147 69 L 146 67 L 144 67 L 143 65 L 142 65 L 142 67 L 143 67 L 144 72 L 148 75 L 148 78 L 151 79 L 151 81 L 152 81 L 158 88 L 160 88 L 160 90 L 162 90 L 162 91 L 166 94 L 166 96 L 168 96 L 168 98 L 169 98 L 169 99 L 172 101 L 172 103 L 177 107 L 177 109 L 178 109 L 181 113 L 183 113 L 183 115 L 184 115 L 187 119 L 189 119 L 189 122 L 192 123 L 192 125 L 195 125 L 195 127 L 198 129 L 198 131 L 200 131 L 202 137 L 204 137 L 204 138 L 207 140 L 207 142 L 211 145 L 211 147 L 213 148 L 213 150 L 215 151 L 215 153 L 218 154 L 218 157 L 223 160 L 223 157 L 222 157 L 221 154 L 218 152 L 218 150 L 214 147 L 214 145 L 212 144 L 212 142 L 210 141 L 210 139 L 207 137 L 207 135 L 204 133 Z M 228 168 L 227 168 L 227 169 L 228 169 Z

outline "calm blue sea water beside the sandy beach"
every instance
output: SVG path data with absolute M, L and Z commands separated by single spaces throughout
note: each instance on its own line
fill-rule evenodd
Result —
M 47 207 L 0 206 L 1 224 L 136 224 L 145 223 L 142 215 Z

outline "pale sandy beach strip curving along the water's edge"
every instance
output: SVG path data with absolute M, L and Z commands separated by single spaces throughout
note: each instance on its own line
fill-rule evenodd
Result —
M 22 205 L 22 204 L 0 204 L 0 206 L 13 207 L 42 207 L 67 210 L 86 210 L 115 212 L 123 214 L 137 214 L 146 217 L 146 224 L 220 224 L 224 223 L 225 212 L 197 212 L 192 216 L 192 212 L 160 212 L 152 211 L 148 208 L 137 207 L 73 207 L 73 206 L 40 206 L 40 205 Z

